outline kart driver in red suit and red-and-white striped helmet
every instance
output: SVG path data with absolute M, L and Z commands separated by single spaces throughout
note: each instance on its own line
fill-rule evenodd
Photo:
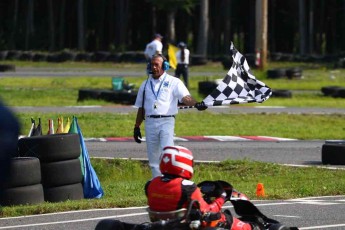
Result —
M 216 198 L 207 203 L 200 188 L 191 181 L 194 174 L 194 158 L 192 152 L 182 146 L 166 146 L 160 157 L 161 176 L 148 181 L 145 194 L 149 209 L 154 212 L 171 212 L 188 208 L 191 201 L 198 201 L 200 211 L 219 212 L 217 227 L 233 230 L 259 230 L 255 223 L 245 223 L 232 217 L 231 212 L 222 212 L 222 206 L 228 196 L 223 187 L 216 186 Z M 158 217 L 159 218 L 159 217 Z

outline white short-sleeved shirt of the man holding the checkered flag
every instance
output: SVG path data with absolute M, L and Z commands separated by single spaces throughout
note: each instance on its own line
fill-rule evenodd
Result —
M 134 104 L 137 108 L 142 107 L 144 87 L 145 116 L 175 115 L 178 113 L 178 101 L 181 102 L 183 97 L 190 95 L 180 79 L 165 72 L 159 79 L 156 80 L 150 76 L 141 84 Z

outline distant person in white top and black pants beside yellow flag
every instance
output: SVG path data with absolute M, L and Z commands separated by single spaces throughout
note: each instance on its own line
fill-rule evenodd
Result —
M 178 47 L 180 49 L 176 52 L 177 67 L 175 70 L 175 77 L 180 78 L 182 74 L 184 84 L 188 88 L 188 65 L 190 52 L 187 49 L 186 43 L 184 42 L 180 42 Z

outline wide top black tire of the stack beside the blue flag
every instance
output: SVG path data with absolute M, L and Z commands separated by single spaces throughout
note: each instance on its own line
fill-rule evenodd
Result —
M 80 156 L 79 135 L 61 133 L 24 137 L 18 140 L 19 156 L 37 157 L 43 162 L 64 161 Z

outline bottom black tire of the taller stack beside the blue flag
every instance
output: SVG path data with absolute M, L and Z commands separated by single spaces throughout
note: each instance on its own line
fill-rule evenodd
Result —
M 43 190 L 44 200 L 48 202 L 81 200 L 84 198 L 83 185 L 81 183 L 43 188 Z

